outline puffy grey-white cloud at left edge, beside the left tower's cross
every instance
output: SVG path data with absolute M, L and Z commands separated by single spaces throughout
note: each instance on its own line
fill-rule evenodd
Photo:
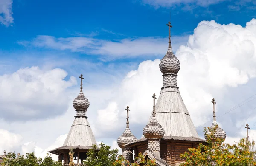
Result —
M 75 77 L 66 81 L 66 76 L 62 69 L 45 71 L 38 67 L 0 76 L 1 118 L 26 121 L 63 114 L 69 100 L 65 89 L 76 84 Z

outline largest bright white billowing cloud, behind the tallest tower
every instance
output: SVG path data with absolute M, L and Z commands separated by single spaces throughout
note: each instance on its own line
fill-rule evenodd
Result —
M 235 96 L 225 98 L 230 92 L 228 88 L 232 91 L 255 78 L 255 27 L 255 19 L 248 22 L 246 27 L 202 21 L 195 28 L 194 34 L 189 37 L 187 45 L 181 46 L 176 51 L 175 54 L 181 63 L 177 84 L 195 126 L 211 121 L 212 98 L 215 98 L 218 103 L 216 112 L 218 117 L 227 111 L 224 109 L 237 104 L 234 99 L 239 98 L 239 93 L 241 93 L 238 91 Z M 166 51 L 167 43 L 165 45 Z M 113 110 L 105 109 L 104 115 L 108 117 L 109 114 L 115 118 L 111 120 L 111 125 L 120 128 L 119 135 L 125 127 L 126 105 L 131 108 L 130 127 L 139 126 L 134 131 L 136 134 L 141 133 L 142 125 L 148 121 L 152 111 L 151 96 L 153 93 L 159 94 L 163 83 L 159 62 L 159 59 L 141 62 L 137 70 L 129 72 L 120 86 L 115 87 L 116 95 L 111 99 L 111 103 L 117 103 L 115 105 L 117 108 L 115 107 L 114 110 L 119 110 L 119 112 L 116 111 L 112 115 Z M 239 100 L 243 101 L 244 96 Z M 228 105 L 224 106 L 224 104 Z M 110 105 L 106 108 L 109 107 Z M 249 114 L 239 111 L 236 112 L 236 116 L 232 113 L 228 115 L 225 120 L 219 119 L 218 122 L 228 134 L 234 134 L 236 122 L 240 122 L 241 119 L 244 122 Z M 97 121 L 101 123 L 99 119 Z M 207 125 L 209 126 L 210 123 Z M 104 127 L 103 124 L 100 126 L 101 134 L 106 135 L 107 132 L 104 131 L 108 127 Z M 202 128 L 198 130 L 201 132 Z

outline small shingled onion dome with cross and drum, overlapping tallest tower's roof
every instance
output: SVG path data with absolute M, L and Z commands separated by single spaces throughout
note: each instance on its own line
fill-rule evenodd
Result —
M 148 149 L 152 150 L 157 158 L 160 158 L 160 139 L 164 135 L 164 129 L 158 123 L 155 115 L 155 96 L 155 94 L 152 96 L 154 98 L 153 116 L 150 122 L 143 128 L 143 135 L 148 139 Z

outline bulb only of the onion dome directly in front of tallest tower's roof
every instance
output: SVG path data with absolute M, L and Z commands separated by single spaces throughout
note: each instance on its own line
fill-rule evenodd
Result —
M 152 117 L 150 122 L 144 127 L 143 135 L 145 138 L 156 138 L 160 139 L 164 135 L 163 127 L 158 123 L 156 117 Z

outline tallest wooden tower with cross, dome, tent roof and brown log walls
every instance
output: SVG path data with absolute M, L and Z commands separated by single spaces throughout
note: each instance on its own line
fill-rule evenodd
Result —
M 184 161 L 180 158 L 181 153 L 184 153 L 190 147 L 197 147 L 204 140 L 199 138 L 189 111 L 181 98 L 179 87 L 177 87 L 180 61 L 172 51 L 170 30 L 172 25 L 170 22 L 167 25 L 169 27 L 169 47 L 159 64 L 163 73 L 163 87 L 149 119 L 150 123 L 152 118 L 156 118 L 164 129 L 164 135 L 160 138 L 160 157 L 155 156 L 154 152 L 152 153 L 147 148 L 148 139 L 144 135 L 141 139 L 126 144 L 125 148 L 133 148 L 135 156 L 140 152 L 147 154 L 149 158 L 153 156 L 156 160 L 159 160 L 159 164 L 157 164 L 159 166 L 165 165 L 165 163 L 169 166 L 177 166 Z M 160 161 L 164 161 L 164 163 Z

